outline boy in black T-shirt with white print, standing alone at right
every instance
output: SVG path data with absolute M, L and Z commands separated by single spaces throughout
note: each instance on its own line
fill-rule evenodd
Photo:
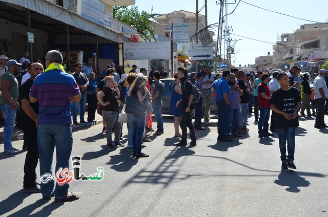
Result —
M 286 73 L 280 73 L 277 77 L 281 88 L 273 92 L 270 104 L 271 110 L 275 113 L 281 168 L 296 169 L 294 164 L 295 152 L 295 128 L 298 126 L 297 111 L 300 106 L 300 99 L 296 88 L 290 88 L 289 77 Z M 286 141 L 288 156 L 286 156 Z

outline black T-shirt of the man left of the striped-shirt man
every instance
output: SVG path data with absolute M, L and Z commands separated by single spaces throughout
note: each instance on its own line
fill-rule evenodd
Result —
M 33 84 L 33 81 L 31 79 L 27 79 L 19 88 L 19 99 L 20 101 L 22 101 L 22 99 L 27 99 L 28 101 L 30 101 L 30 97 L 29 97 L 29 93 L 30 93 L 30 89 L 31 86 Z M 35 114 L 39 113 L 39 101 L 36 101 L 34 103 L 30 102 L 30 105 L 33 109 L 33 111 L 35 112 Z M 26 123 L 26 124 L 32 124 L 33 126 L 35 126 L 35 121 L 33 121 L 23 110 L 23 108 L 20 110 L 21 114 L 22 114 L 22 122 Z

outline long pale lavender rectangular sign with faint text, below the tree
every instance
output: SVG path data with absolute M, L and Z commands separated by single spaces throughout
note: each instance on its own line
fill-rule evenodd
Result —
M 170 59 L 171 41 L 124 43 L 124 59 Z

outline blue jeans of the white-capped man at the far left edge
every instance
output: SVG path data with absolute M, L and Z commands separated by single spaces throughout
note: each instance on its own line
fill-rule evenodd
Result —
M 4 112 L 4 116 L 5 116 L 4 146 L 5 149 L 10 149 L 12 148 L 11 137 L 15 125 L 17 109 L 15 108 L 14 110 L 12 110 L 10 105 L 7 104 L 0 104 L 0 107 Z

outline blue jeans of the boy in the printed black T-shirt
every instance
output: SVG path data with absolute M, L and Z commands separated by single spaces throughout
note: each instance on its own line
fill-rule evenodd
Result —
M 295 127 L 277 128 L 279 137 L 280 159 L 294 160 L 295 153 Z M 286 156 L 286 140 L 288 156 Z

